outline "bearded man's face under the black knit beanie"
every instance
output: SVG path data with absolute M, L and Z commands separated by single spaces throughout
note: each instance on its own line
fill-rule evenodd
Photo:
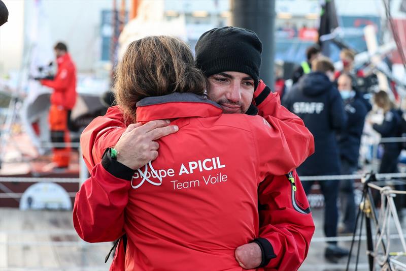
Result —
M 207 94 L 223 113 L 245 113 L 254 95 L 254 79 L 241 72 L 221 72 L 209 76 Z

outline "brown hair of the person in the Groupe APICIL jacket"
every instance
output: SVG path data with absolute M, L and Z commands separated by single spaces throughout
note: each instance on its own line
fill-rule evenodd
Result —
M 145 97 L 178 93 L 204 95 L 205 76 L 195 68 L 192 52 L 179 39 L 151 36 L 128 45 L 116 70 L 115 98 L 134 121 L 136 103 Z

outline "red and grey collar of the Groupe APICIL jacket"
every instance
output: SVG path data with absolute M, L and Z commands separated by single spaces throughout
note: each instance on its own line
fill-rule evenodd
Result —
M 172 93 L 147 97 L 137 103 L 137 122 L 180 117 L 210 117 L 223 112 L 221 107 L 192 93 Z

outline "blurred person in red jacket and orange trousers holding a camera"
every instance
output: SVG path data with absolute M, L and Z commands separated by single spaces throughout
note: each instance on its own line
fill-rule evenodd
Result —
M 67 122 L 76 102 L 76 67 L 64 43 L 58 42 L 55 47 L 58 70 L 53 80 L 40 80 L 42 85 L 53 88 L 49 108 L 49 126 L 52 143 L 65 143 L 52 149 L 52 163 L 44 170 L 67 168 L 69 166 L 70 136 Z

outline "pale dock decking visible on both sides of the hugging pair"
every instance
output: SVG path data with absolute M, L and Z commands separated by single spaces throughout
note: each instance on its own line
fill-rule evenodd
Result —
M 316 232 L 308 257 L 299 271 L 345 270 L 346 258 L 341 259 L 338 264 L 331 264 L 323 257 L 325 243 L 322 239 L 322 216 L 321 209 L 313 209 Z M 406 219 L 403 219 L 404 232 L 405 222 Z M 393 234 L 393 223 L 391 225 Z M 350 239 L 348 236 L 346 238 Z M 350 244 L 350 240 L 339 243 L 347 248 Z M 357 244 L 356 242 L 355 245 Z M 0 271 L 107 271 L 111 259 L 106 264 L 104 259 L 111 245 L 83 242 L 73 228 L 71 211 L 20 211 L 17 208 L 0 208 Z M 360 251 L 358 270 L 368 270 L 364 240 L 361 242 Z M 401 251 L 399 239 L 391 239 L 390 251 Z M 355 255 L 356 249 L 350 270 L 355 269 Z

